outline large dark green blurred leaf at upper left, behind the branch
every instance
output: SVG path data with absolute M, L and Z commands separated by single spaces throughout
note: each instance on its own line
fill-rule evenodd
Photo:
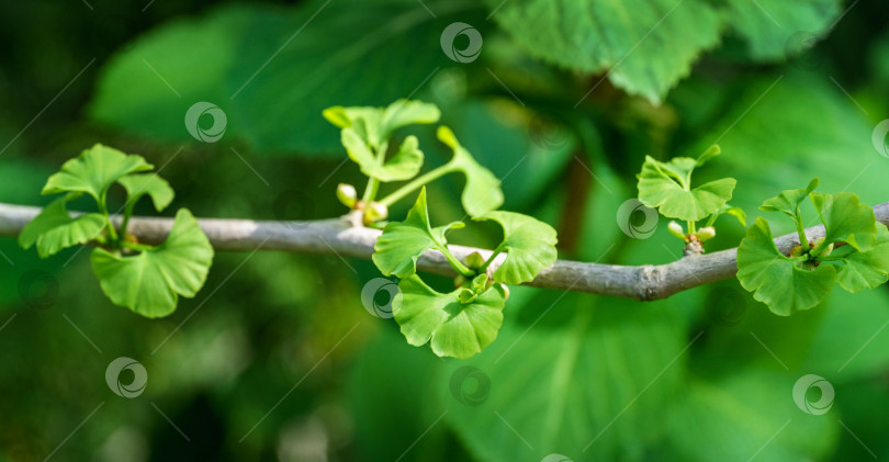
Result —
M 227 4 L 164 25 L 112 59 L 91 114 L 140 135 L 190 140 L 185 112 L 206 101 L 225 112 L 226 138 L 265 150 L 336 153 L 325 108 L 386 105 L 450 63 L 437 24 L 473 5 L 430 8 L 437 21 L 410 0 Z

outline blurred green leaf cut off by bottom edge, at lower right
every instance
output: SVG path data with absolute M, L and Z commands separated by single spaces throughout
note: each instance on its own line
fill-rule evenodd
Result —
M 807 415 L 791 397 L 796 375 L 741 370 L 694 380 L 669 413 L 668 443 L 683 461 L 822 460 L 836 419 Z

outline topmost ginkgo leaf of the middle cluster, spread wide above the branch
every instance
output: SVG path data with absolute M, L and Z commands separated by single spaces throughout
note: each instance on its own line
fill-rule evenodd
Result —
M 413 124 L 436 123 L 441 112 L 435 104 L 397 100 L 387 108 L 333 106 L 322 115 L 340 128 L 352 128 L 360 139 L 376 149 L 389 142 L 394 131 Z

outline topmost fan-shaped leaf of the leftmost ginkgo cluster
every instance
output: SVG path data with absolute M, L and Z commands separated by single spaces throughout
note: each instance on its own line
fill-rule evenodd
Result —
M 104 204 L 105 192 L 121 177 L 153 168 L 142 156 L 97 144 L 66 161 L 58 173 L 49 177 L 43 194 L 86 192 Z

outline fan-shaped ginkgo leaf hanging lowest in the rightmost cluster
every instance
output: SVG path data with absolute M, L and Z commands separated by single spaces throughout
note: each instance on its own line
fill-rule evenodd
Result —
M 830 264 L 803 269 L 781 255 L 768 222 L 759 217 L 738 247 L 738 280 L 773 313 L 789 316 L 821 303 L 836 282 L 836 270 Z

